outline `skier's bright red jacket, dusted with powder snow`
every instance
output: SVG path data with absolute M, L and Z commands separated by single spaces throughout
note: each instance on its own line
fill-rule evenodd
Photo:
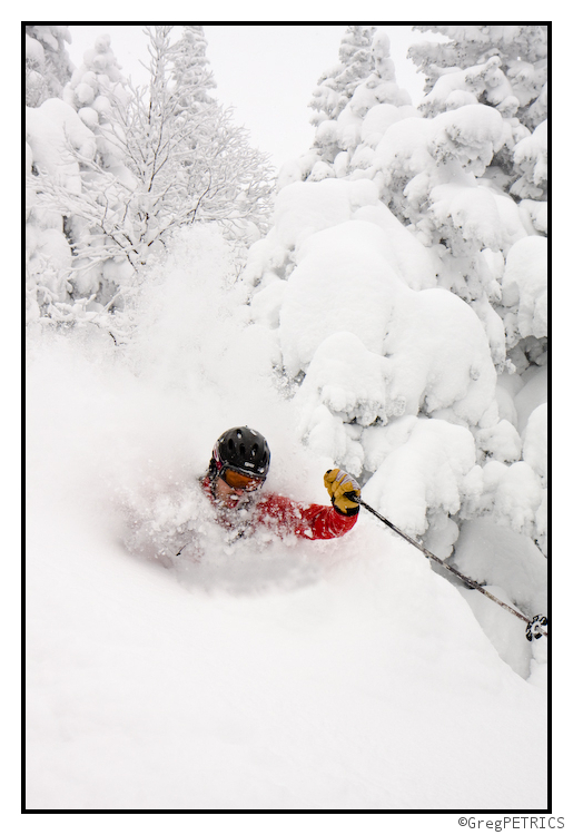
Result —
M 215 504 L 208 477 L 204 479 L 202 488 Z M 223 521 L 226 527 L 230 527 L 229 517 Z M 354 528 L 357 519 L 358 514 L 347 517 L 328 504 L 302 504 L 285 495 L 263 493 L 251 510 L 249 529 L 265 525 L 279 537 L 294 533 L 304 539 L 334 539 Z

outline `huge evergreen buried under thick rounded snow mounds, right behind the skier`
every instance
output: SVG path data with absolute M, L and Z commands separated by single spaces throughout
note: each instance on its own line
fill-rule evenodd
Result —
M 482 96 L 414 111 L 382 32 L 376 50 L 372 84 L 317 122 L 329 156 L 279 174 L 275 225 L 246 271 L 251 317 L 274 338 L 302 438 L 359 478 L 371 504 L 443 558 L 460 539 L 455 559 L 483 581 L 515 537 L 516 573 L 534 576 L 546 548 L 546 239 L 495 176 L 505 112 Z M 534 185 L 536 147 L 518 147 Z M 480 564 L 467 547 L 477 520 Z M 527 583 L 503 586 L 534 607 Z

